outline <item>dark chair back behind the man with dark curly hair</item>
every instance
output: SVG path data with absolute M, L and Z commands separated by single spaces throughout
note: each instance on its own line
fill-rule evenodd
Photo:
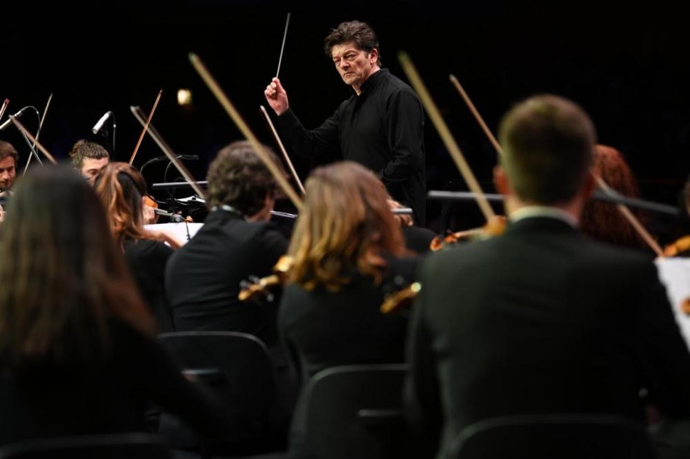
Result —
M 190 380 L 206 385 L 240 421 L 243 429 L 214 453 L 257 453 L 273 446 L 271 414 L 275 403 L 273 365 L 266 345 L 241 332 L 170 332 L 157 339 Z M 158 432 L 176 449 L 201 449 L 197 436 L 172 414 L 162 413 Z

